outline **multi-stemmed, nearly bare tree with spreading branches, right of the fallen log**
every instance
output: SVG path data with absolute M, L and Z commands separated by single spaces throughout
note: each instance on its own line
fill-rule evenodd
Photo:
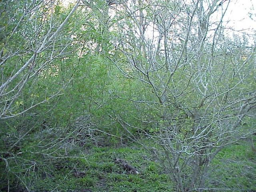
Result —
M 177 191 L 206 188 L 210 163 L 226 145 L 246 138 L 255 128 L 255 44 L 230 38 L 224 16 L 230 0 L 129 1 L 117 9 L 112 43 L 127 62 L 114 64 L 128 78 L 140 80 L 145 94 L 128 98 L 156 132 L 165 170 Z M 216 19 L 216 17 L 218 19 Z M 148 86 L 153 94 L 146 94 Z M 138 109 L 137 107 L 136 109 Z M 122 127 L 132 127 L 116 117 Z

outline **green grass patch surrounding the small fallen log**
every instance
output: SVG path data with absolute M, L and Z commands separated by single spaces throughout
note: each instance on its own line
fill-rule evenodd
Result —
M 86 159 L 63 160 L 53 164 L 52 174 L 34 183 L 35 191 L 61 192 L 155 192 L 173 190 L 170 178 L 161 171 L 158 163 L 152 162 L 140 146 L 131 144 L 125 147 L 87 146 Z M 140 174 L 127 174 L 115 164 L 115 158 L 125 159 Z M 146 159 L 146 160 L 145 160 Z M 85 173 L 75 176 L 72 169 Z M 33 176 L 32 176 L 33 177 Z M 32 179 L 32 178 L 30 178 Z

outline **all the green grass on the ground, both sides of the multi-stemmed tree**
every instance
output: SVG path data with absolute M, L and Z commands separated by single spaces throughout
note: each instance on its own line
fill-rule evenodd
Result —
M 256 154 L 249 141 L 224 148 L 213 160 L 210 188 L 231 188 L 232 192 L 256 191 Z M 79 150 L 70 151 L 70 156 Z M 73 154 L 72 154 L 73 153 Z M 81 159 L 61 159 L 47 167 L 37 165 L 37 171 L 22 178 L 31 183 L 34 192 L 173 192 L 174 183 L 158 162 L 151 160 L 143 148 L 130 143 L 126 146 L 96 147 L 89 142 L 80 151 Z M 140 174 L 128 174 L 115 163 L 126 160 Z M 83 173 L 77 176 L 74 173 Z M 33 182 L 34 180 L 34 182 Z M 218 190 L 214 190 L 218 191 Z M 222 191 L 222 190 L 219 190 Z

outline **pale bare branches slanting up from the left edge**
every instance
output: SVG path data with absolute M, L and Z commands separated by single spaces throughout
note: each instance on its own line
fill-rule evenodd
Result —
M 0 2 L 0 119 L 23 114 L 60 94 L 61 89 L 17 110 L 23 104 L 18 98 L 26 84 L 42 76 L 55 58 L 67 53 L 71 40 L 63 36 L 61 30 L 79 4 L 80 0 L 66 18 L 60 20 L 54 16 L 57 14 L 55 0 Z

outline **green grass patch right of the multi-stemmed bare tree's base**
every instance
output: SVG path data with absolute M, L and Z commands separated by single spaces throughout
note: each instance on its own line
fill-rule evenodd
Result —
M 256 191 L 256 153 L 250 141 L 241 141 L 224 148 L 212 165 L 210 177 L 218 180 L 212 179 L 210 186 L 232 188 L 233 192 Z

